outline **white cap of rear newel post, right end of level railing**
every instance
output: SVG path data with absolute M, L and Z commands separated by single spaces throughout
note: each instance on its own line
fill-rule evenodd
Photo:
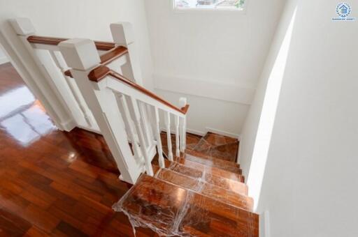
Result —
M 117 45 L 127 46 L 134 43 L 134 31 L 130 22 L 117 22 L 110 24 L 113 41 Z

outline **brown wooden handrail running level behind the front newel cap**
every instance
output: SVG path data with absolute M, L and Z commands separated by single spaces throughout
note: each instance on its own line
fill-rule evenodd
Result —
M 45 36 L 29 36 L 27 41 L 29 43 L 34 44 L 42 44 L 42 45 L 58 45 L 62 41 L 68 40 L 68 38 L 53 38 L 53 37 L 45 37 Z M 103 41 L 94 41 L 96 48 L 98 50 L 108 51 L 115 47 L 115 43 L 111 42 L 103 42 Z

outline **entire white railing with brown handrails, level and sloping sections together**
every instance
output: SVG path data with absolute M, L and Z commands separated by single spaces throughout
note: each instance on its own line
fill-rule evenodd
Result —
M 10 23 L 75 126 L 99 132 L 106 139 L 123 181 L 136 183 L 144 171 L 152 176 L 151 162 L 157 153 L 159 166 L 164 167 L 162 126 L 168 159 L 173 160 L 172 127 L 175 155 L 185 151 L 186 99 L 180 98 L 179 109 L 141 86 L 131 24 L 110 25 L 115 43 L 94 43 L 36 36 L 25 18 Z

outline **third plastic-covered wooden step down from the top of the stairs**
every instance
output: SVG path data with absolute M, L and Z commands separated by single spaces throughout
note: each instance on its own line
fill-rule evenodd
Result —
M 203 172 L 194 169 L 193 167 L 186 167 L 185 165 L 180 165 L 176 162 L 170 162 L 169 160 L 164 160 L 167 169 L 176 171 L 177 173 L 184 174 L 185 176 L 190 176 L 193 178 L 200 178 L 203 176 Z M 153 164 L 158 165 L 157 161 L 153 161 Z M 206 173 L 205 175 L 206 183 L 219 186 L 231 192 L 236 192 L 238 194 L 243 194 L 248 196 L 248 185 L 240 181 L 234 181 L 228 178 L 223 178 L 221 176 L 216 176 L 214 174 Z

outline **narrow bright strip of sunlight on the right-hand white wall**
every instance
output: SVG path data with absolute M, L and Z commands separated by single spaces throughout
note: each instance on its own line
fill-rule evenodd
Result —
M 282 79 L 285 75 L 289 47 L 291 44 L 292 32 L 296 19 L 296 10 L 297 7 L 292 12 L 291 20 L 287 26 L 287 29 L 285 29 L 285 34 L 275 56 L 275 61 L 271 67 L 271 72 L 269 72 L 269 75 L 267 75 L 268 79 L 266 84 L 266 92 L 264 92 L 264 101 L 259 119 L 255 146 L 253 148 L 250 170 L 248 173 L 248 186 L 250 187 L 249 195 L 255 200 L 255 210 L 259 204 L 259 197 L 262 190 L 262 181 L 264 178 L 266 161 L 268 157 L 268 149 L 271 143 L 271 135 L 275 122 L 278 100 L 280 98 Z

